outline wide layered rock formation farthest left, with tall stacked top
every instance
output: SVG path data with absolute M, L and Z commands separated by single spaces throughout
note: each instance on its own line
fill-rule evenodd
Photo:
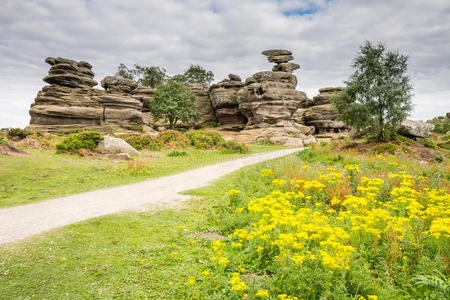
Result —
M 45 61 L 51 67 L 43 80 L 50 86 L 42 88 L 31 105 L 30 130 L 114 131 L 144 124 L 142 103 L 129 94 L 136 82 L 108 76 L 102 80 L 106 91 L 98 90 L 88 62 L 61 57 Z

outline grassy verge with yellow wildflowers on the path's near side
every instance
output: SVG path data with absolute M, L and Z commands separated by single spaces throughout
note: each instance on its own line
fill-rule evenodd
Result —
M 178 210 L 1 246 L 0 298 L 445 299 L 450 233 L 433 225 L 448 183 L 445 162 L 323 145 L 189 191 Z M 418 283 L 437 272 L 442 284 Z

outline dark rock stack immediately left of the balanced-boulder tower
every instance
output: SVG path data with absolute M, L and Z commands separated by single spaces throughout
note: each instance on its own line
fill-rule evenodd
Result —
M 237 92 L 244 86 L 241 78 L 229 74 L 228 78 L 213 84 L 209 88 L 209 98 L 214 115 L 226 130 L 243 129 L 247 120 L 239 111 Z

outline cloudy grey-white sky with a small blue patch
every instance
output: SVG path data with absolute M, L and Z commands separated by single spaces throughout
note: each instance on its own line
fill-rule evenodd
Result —
M 409 56 L 410 119 L 450 111 L 448 0 L 0 0 L 0 128 L 24 127 L 48 56 L 86 60 L 95 80 L 117 66 L 190 64 L 243 80 L 271 70 L 261 51 L 288 49 L 297 89 L 343 86 L 366 40 Z M 100 88 L 98 85 L 96 88 Z

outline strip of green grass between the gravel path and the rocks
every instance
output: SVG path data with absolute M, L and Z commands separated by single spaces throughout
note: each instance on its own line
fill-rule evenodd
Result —
M 43 150 L 30 150 L 31 156 L 0 156 L 0 208 L 135 183 L 281 148 L 250 145 L 247 154 L 189 149 L 187 156 L 178 157 L 167 156 L 169 151 L 143 152 L 132 163 Z

